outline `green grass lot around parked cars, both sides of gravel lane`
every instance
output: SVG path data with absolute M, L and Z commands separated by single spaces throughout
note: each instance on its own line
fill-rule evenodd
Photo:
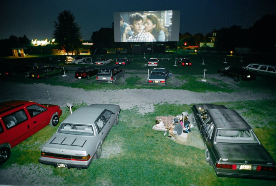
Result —
M 184 55 L 184 54 L 182 54 Z M 179 57 L 181 57 L 180 55 Z M 16 81 L 22 83 L 47 83 L 51 85 L 63 85 L 79 87 L 87 90 L 98 89 L 185 89 L 195 92 L 241 92 L 241 91 L 275 91 L 275 79 L 257 77 L 257 80 L 250 82 L 234 82 L 220 80 L 217 73 L 218 68 L 225 66 L 245 66 L 246 63 L 256 62 L 253 59 L 263 59 L 255 56 L 243 56 L 243 63 L 240 56 L 225 55 L 203 55 L 185 54 L 190 57 L 193 65 L 191 67 L 174 67 L 176 55 L 157 55 L 159 58 L 171 57 L 169 61 L 161 60 L 160 66 L 168 68 L 173 76 L 185 81 L 178 87 L 174 84 L 168 86 L 150 86 L 141 83 L 138 74 L 147 76 L 148 67 L 144 61 L 132 62 L 126 66 L 126 73 L 130 76 L 125 82 L 118 85 L 98 84 L 95 81 L 79 81 L 70 83 L 59 81 L 61 77 L 55 76 L 48 81 L 33 79 L 18 79 L 20 75 L 10 77 L 5 81 Z M 109 56 L 108 56 L 109 57 Z M 115 56 L 116 57 L 116 56 Z M 114 58 L 115 58 L 114 57 Z M 128 56 L 131 58 L 131 56 Z M 150 56 L 146 56 L 147 58 Z M 184 57 L 184 56 L 183 56 Z M 113 58 L 110 55 L 109 58 Z M 143 58 L 143 56 L 135 56 Z M 203 66 L 202 60 L 205 59 Z M 36 61 L 48 58 L 34 58 Z M 13 59 L 14 60 L 14 59 Z M 15 59 L 17 60 L 17 59 Z M 53 59 L 53 60 L 56 60 Z M 32 61 L 33 62 L 33 61 Z M 31 63 L 31 62 L 30 62 Z M 53 62 L 52 62 L 53 63 Z M 52 64 L 51 63 L 51 64 Z M 58 64 L 55 62 L 54 64 Z M 138 70 L 138 72 L 136 72 Z M 201 82 L 203 69 L 206 71 L 207 83 Z M 128 72 L 129 70 L 129 72 Z M 69 70 L 70 71 L 70 70 Z M 133 72 L 135 71 L 135 72 Z M 137 76 L 136 76 L 137 74 Z M 22 75 L 22 74 L 21 74 Z M 217 76 L 216 76 L 217 75 Z M 136 78 L 137 77 L 137 78 Z M 74 78 L 74 77 L 72 77 Z M 187 98 L 188 99 L 188 98 Z M 261 101 L 232 101 L 219 102 L 228 108 L 235 109 L 253 128 L 263 146 L 276 160 L 276 126 L 275 126 L 275 104 L 276 97 L 270 100 Z M 74 107 L 85 106 L 75 104 Z M 172 116 L 183 111 L 191 113 L 192 105 L 163 104 L 154 105 L 155 110 L 145 115 L 138 112 L 138 108 L 123 110 L 120 114 L 119 125 L 113 126 L 105 142 L 103 143 L 102 156 L 94 160 L 88 169 L 59 169 L 38 163 L 40 150 L 43 144 L 56 132 L 57 127 L 47 126 L 29 139 L 14 147 L 10 159 L 0 167 L 0 184 L 11 185 L 189 185 L 189 186 L 258 186 L 275 185 L 276 181 L 251 180 L 237 178 L 217 177 L 213 167 L 205 160 L 204 149 L 189 145 L 176 143 L 169 138 L 163 138 L 163 132 L 154 131 L 152 127 L 155 116 Z M 67 116 L 68 108 L 63 108 L 61 123 Z M 132 122 L 129 122 L 132 121 Z M 192 128 L 189 135 L 198 134 L 197 128 Z M 198 139 L 203 143 L 201 139 Z M 12 180 L 12 182 L 8 182 Z

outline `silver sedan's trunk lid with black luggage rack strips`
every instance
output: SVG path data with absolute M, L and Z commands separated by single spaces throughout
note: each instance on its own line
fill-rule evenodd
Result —
M 57 154 L 73 154 L 73 151 L 83 151 L 84 154 L 82 155 L 86 155 L 85 151 L 93 140 L 94 136 L 69 135 L 57 132 L 44 144 L 42 151 Z

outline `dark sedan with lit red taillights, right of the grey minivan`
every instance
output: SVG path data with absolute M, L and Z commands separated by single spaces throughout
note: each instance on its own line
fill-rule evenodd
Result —
M 166 68 L 154 68 L 148 78 L 148 84 L 167 85 L 169 70 Z

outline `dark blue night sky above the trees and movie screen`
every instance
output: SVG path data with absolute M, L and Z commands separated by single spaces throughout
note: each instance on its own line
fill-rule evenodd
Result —
M 212 32 L 238 25 L 249 28 L 266 14 L 276 13 L 274 0 L 121 0 L 61 1 L 2 0 L 0 39 L 26 35 L 30 40 L 52 39 L 54 21 L 60 12 L 70 10 L 81 27 L 82 39 L 91 38 L 100 28 L 111 28 L 113 12 L 180 10 L 180 33 Z

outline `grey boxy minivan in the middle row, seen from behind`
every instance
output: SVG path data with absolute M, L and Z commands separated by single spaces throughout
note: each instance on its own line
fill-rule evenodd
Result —
M 98 82 L 116 84 L 121 77 L 125 77 L 125 69 L 121 68 L 121 66 L 109 65 L 98 70 L 96 80 Z

